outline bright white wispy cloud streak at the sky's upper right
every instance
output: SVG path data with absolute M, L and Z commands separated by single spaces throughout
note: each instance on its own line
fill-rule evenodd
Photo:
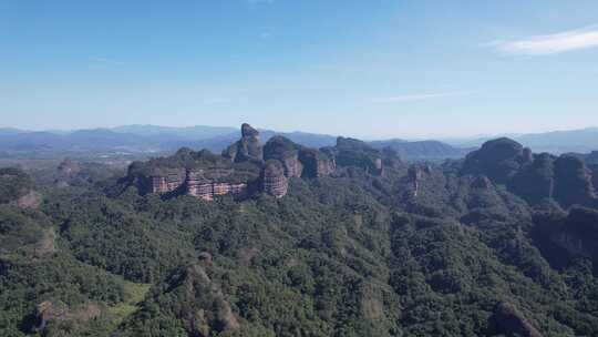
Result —
M 594 25 L 548 35 L 535 35 L 522 40 L 494 41 L 489 44 L 507 54 L 556 54 L 598 47 L 598 27 Z

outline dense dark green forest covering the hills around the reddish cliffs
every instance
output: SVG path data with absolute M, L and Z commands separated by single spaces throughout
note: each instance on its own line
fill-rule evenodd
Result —
M 0 335 L 598 336 L 584 159 L 505 139 L 442 164 L 350 139 L 313 155 L 334 170 L 285 178 L 283 196 L 214 201 L 136 174 L 243 163 L 184 150 L 128 172 L 3 168 Z

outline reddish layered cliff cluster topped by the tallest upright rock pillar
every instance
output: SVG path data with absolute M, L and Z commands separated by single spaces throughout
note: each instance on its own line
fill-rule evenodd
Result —
M 274 136 L 261 146 L 259 132 L 243 124 L 241 139 L 220 156 L 206 150 L 182 149 L 172 157 L 133 163 L 128 181 L 142 193 L 186 194 L 205 201 L 256 191 L 278 198 L 287 194 L 289 178 L 321 177 L 334 168 L 333 159 L 326 153 L 282 136 Z

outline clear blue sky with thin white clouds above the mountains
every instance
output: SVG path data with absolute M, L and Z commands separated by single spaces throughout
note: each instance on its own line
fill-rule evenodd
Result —
M 598 125 L 598 1 L 0 0 L 0 126 Z

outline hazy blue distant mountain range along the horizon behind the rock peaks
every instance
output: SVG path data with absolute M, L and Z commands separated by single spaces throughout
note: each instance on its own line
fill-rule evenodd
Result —
M 336 135 L 307 132 L 277 132 L 260 130 L 265 143 L 272 135 L 310 147 L 331 146 Z M 123 125 L 112 129 L 74 131 L 24 131 L 0 129 L 0 157 L 94 157 L 130 155 L 151 156 L 168 153 L 179 147 L 208 149 L 219 153 L 238 137 L 237 127 L 196 125 L 187 127 L 156 125 Z M 598 150 L 598 127 L 574 131 L 556 131 L 538 134 L 511 135 L 534 152 L 588 153 Z M 463 157 L 483 142 L 493 137 L 467 141 L 405 141 L 381 140 L 369 142 L 375 149 L 391 147 L 404 160 L 444 160 Z

